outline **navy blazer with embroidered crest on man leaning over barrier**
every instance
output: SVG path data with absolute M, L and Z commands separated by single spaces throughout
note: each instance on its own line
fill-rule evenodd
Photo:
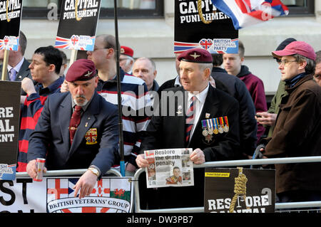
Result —
M 95 165 L 104 174 L 118 157 L 117 107 L 94 93 L 70 146 L 68 126 L 71 115 L 70 93 L 48 97 L 29 139 L 28 161 L 46 158 L 49 170 L 86 169 Z M 97 143 L 87 144 L 85 137 L 93 129 L 96 129 Z

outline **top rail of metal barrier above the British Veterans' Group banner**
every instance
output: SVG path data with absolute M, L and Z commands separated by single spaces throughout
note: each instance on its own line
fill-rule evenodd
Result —
M 71 176 L 71 175 L 82 175 L 84 172 L 86 172 L 88 169 L 63 169 L 63 170 L 51 170 L 46 171 L 44 173 L 44 176 Z M 106 171 L 106 174 L 113 174 L 116 176 L 121 176 L 121 172 L 117 169 L 111 168 L 108 171 Z M 16 177 L 29 177 L 29 175 L 24 172 L 17 172 Z

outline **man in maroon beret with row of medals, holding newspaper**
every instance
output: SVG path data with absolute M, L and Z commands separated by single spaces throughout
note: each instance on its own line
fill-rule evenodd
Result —
M 155 111 L 159 114 L 153 115 L 143 137 L 138 167 L 148 167 L 143 152 L 149 149 L 192 148 L 194 164 L 240 159 L 238 101 L 210 86 L 211 54 L 195 48 L 180 54 L 178 60 L 182 87 L 162 92 Z M 149 191 L 156 196 L 143 195 L 148 207 L 204 206 L 204 169 L 194 169 L 194 173 L 195 186 L 158 188 Z

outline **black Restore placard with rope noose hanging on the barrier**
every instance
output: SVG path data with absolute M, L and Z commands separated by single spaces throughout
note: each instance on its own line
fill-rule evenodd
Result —
M 274 213 L 275 169 L 205 168 L 205 213 Z

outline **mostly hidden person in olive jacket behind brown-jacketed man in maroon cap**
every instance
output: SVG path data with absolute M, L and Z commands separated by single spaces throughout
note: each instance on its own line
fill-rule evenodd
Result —
M 288 44 L 292 43 L 293 41 L 296 41 L 295 38 L 287 38 L 285 41 L 282 41 L 279 46 L 275 49 L 275 51 L 281 51 L 287 46 Z M 277 64 L 280 65 L 281 60 L 279 58 L 273 57 Z M 271 105 L 269 107 L 269 110 L 267 112 L 257 112 L 256 120 L 261 124 L 264 125 L 266 128 L 269 127 L 267 130 L 267 137 L 272 136 L 272 132 L 274 130 L 275 120 L 277 117 L 277 113 L 280 111 L 280 102 L 282 97 L 287 95 L 287 92 L 285 91 L 285 82 L 280 80 L 279 86 L 277 87 L 277 91 L 275 95 L 272 97 Z M 258 117 L 260 116 L 260 117 Z

